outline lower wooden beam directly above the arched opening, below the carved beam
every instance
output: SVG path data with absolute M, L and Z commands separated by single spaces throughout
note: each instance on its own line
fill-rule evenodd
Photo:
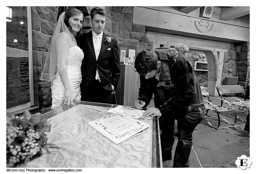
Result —
M 146 37 L 150 42 L 157 44 L 158 47 L 161 45 L 176 45 L 179 43 L 185 44 L 189 47 L 189 49 L 193 50 L 206 50 L 206 51 L 218 51 L 218 52 L 226 52 L 230 49 L 230 43 L 218 42 L 218 41 L 210 41 L 205 39 L 198 39 L 193 37 L 185 37 L 180 35 L 172 35 L 166 33 L 158 33 L 147 31 Z

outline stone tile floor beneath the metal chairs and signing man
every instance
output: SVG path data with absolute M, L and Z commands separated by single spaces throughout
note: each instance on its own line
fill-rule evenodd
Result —
M 210 100 L 216 97 L 217 96 L 210 97 Z M 204 97 L 204 99 L 207 98 Z M 212 103 L 220 105 L 218 102 L 220 102 L 220 100 L 213 101 Z M 154 107 L 153 100 L 150 102 L 150 106 L 148 107 Z M 234 105 L 232 105 L 232 107 L 236 110 L 238 109 L 238 107 Z M 209 114 L 214 114 L 214 112 Z M 241 113 L 238 114 L 238 116 L 246 121 L 247 114 L 248 113 Z M 228 121 L 234 120 L 234 116 L 230 114 L 220 114 L 220 117 Z M 250 157 L 250 132 L 245 131 L 244 126 L 245 122 L 239 119 L 234 125 L 227 124 L 221 119 L 220 127 L 214 129 L 210 127 L 205 120 L 203 120 L 193 132 L 193 146 L 189 157 L 190 167 L 237 168 L 237 165 L 235 164 L 237 157 L 240 157 L 241 155 Z M 175 137 L 172 154 L 175 153 L 177 141 L 178 139 Z M 172 167 L 172 165 L 172 160 L 163 162 L 163 167 Z

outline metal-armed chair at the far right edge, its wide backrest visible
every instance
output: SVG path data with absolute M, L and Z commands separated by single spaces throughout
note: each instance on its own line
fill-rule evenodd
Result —
M 224 100 L 228 99 L 228 102 L 231 105 L 238 106 L 238 109 L 241 112 L 239 112 L 237 114 L 247 113 L 247 112 L 249 113 L 249 111 L 250 111 L 250 101 L 246 100 L 245 92 L 244 92 L 242 86 L 240 86 L 240 85 L 220 85 L 220 86 L 217 86 L 216 89 L 217 89 L 218 94 L 219 94 L 221 99 L 224 99 Z M 224 94 L 232 94 L 233 96 L 223 98 Z M 242 94 L 244 100 L 240 100 L 240 99 L 234 97 L 236 94 Z M 230 101 L 230 99 L 232 99 L 232 100 Z M 223 103 L 225 103 L 225 102 L 222 101 L 221 106 L 223 105 Z M 245 108 L 246 108 L 246 110 L 244 110 Z M 239 118 L 241 121 L 245 122 L 240 117 L 237 117 L 237 118 Z

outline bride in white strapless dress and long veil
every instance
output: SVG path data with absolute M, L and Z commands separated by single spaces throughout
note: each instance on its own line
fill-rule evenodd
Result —
M 80 100 L 84 54 L 75 36 L 82 31 L 83 13 L 69 8 L 59 16 L 49 46 L 41 80 L 51 81 L 52 109 Z

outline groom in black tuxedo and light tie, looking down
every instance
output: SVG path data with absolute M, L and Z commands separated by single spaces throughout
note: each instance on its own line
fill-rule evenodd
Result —
M 81 65 L 81 100 L 114 104 L 112 90 L 120 76 L 117 40 L 103 32 L 106 12 L 99 7 L 91 10 L 92 31 L 84 33 L 78 46 L 84 52 Z

